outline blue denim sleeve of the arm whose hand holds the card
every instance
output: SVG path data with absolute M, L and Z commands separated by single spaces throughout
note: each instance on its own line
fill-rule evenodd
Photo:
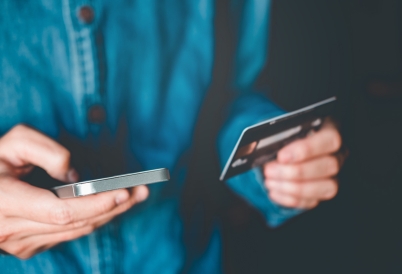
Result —
M 264 92 L 254 89 L 255 81 L 267 63 L 271 1 L 235 2 L 238 35 L 231 91 L 236 99 L 229 106 L 228 119 L 219 135 L 218 150 L 222 167 L 245 127 L 284 113 L 268 100 Z M 259 210 L 271 227 L 279 226 L 301 212 L 299 209 L 282 207 L 269 199 L 259 168 L 233 177 L 226 183 Z

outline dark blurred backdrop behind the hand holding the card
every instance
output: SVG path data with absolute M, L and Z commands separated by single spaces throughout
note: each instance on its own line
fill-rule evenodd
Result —
M 278 229 L 216 180 L 216 159 L 204 166 L 208 174 L 190 173 L 185 201 L 199 203 L 205 227 L 219 212 L 228 273 L 402 273 L 401 15 L 400 0 L 273 1 L 257 88 L 288 111 L 338 96 L 335 117 L 350 157 L 337 197 Z M 199 133 L 203 127 L 201 118 Z M 202 137 L 197 167 L 210 157 Z

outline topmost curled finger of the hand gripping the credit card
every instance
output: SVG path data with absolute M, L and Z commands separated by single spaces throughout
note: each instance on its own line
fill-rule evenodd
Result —
M 342 138 L 335 125 L 327 120 L 316 133 L 294 141 L 278 152 L 278 162 L 299 163 L 338 151 Z

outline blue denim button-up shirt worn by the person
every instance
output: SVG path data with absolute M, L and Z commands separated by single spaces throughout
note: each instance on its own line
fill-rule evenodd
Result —
M 266 61 L 269 0 L 238 2 L 239 96 L 220 135 L 223 162 L 244 126 L 281 113 L 251 88 Z M 80 15 L 83 6 L 93 14 Z M 147 202 L 86 237 L 29 260 L 0 255 L 1 273 L 180 271 L 182 159 L 211 82 L 213 18 L 212 0 L 0 2 L 0 136 L 25 123 L 55 140 L 68 132 L 96 150 L 118 142 L 125 121 L 123 171 L 166 167 L 172 175 L 150 186 Z M 93 106 L 105 110 L 104 122 L 88 119 Z M 261 182 L 252 171 L 229 185 L 273 226 L 297 214 L 270 202 Z M 219 230 L 193 265 L 195 272 L 221 272 Z

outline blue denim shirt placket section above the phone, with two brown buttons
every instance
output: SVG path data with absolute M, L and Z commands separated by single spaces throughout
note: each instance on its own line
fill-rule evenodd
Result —
M 97 131 L 106 121 L 103 98 L 104 63 L 102 39 L 97 26 L 100 13 L 98 2 L 64 0 L 63 17 L 69 36 L 71 83 L 77 111 L 76 125 L 85 136 Z M 93 132 L 92 132 L 93 133 Z

